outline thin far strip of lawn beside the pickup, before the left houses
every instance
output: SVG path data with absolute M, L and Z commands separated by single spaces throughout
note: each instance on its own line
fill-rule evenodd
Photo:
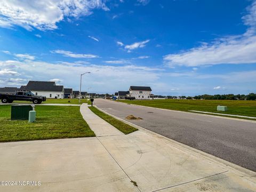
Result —
M 70 102 L 68 102 L 70 101 Z M 31 101 L 13 101 L 13 103 L 33 103 Z M 79 103 L 79 99 L 46 99 L 42 104 L 46 103 L 54 103 L 54 104 L 82 104 L 87 103 L 87 99 L 81 99 L 81 103 Z

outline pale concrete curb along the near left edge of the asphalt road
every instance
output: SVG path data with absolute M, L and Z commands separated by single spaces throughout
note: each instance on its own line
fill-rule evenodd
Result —
M 105 113 L 105 114 L 107 114 L 107 115 L 109 115 L 109 116 L 111 116 L 111 117 L 114 117 L 114 118 L 118 119 L 119 121 L 122 121 L 122 122 L 124 122 L 124 123 L 126 123 L 126 124 L 129 124 L 129 125 L 131 125 L 131 126 L 137 128 L 139 131 L 145 132 L 145 133 L 147 133 L 147 134 L 155 135 L 155 136 L 158 137 L 158 138 L 161 138 L 161 139 L 164 139 L 164 140 L 166 140 L 166 141 L 169 141 L 174 147 L 176 147 L 176 148 L 178 148 L 178 149 L 180 149 L 180 150 L 182 150 L 182 151 L 186 151 L 186 152 L 188 152 L 188 153 L 193 153 L 195 156 L 198 156 L 198 155 L 199 155 L 199 156 L 201 156 L 202 158 L 206 159 L 207 161 L 221 164 L 224 169 L 232 170 L 232 171 L 236 172 L 240 177 L 246 177 L 246 179 L 250 180 L 251 182 L 255 182 L 255 179 L 253 179 L 253 177 L 256 176 L 256 172 L 254 172 L 254 171 L 245 169 L 245 168 L 242 167 L 242 166 L 236 165 L 236 164 L 234 164 L 234 163 L 230 163 L 230 162 L 228 162 L 228 161 L 226 161 L 226 160 L 224 160 L 224 159 L 221 159 L 221 158 L 219 158 L 219 157 L 215 157 L 215 156 L 213 156 L 213 155 L 207 154 L 207 153 L 205 153 L 205 152 L 203 152 L 203 151 L 201 151 L 201 150 L 198 150 L 198 149 L 195 149 L 195 148 L 193 148 L 193 147 L 187 146 L 187 145 L 185 145 L 185 144 L 183 144 L 183 143 L 180 143 L 180 142 L 178 142 L 178 141 L 174 141 L 174 140 L 172 140 L 172 139 L 170 139 L 170 138 L 164 137 L 164 136 L 161 135 L 161 134 L 158 134 L 158 133 L 155 133 L 155 132 L 153 132 L 153 131 L 147 130 L 147 129 L 145 129 L 145 128 L 139 126 L 139 125 L 135 125 L 135 124 L 133 124 L 133 123 L 131 123 L 131 122 L 128 122 L 128 121 L 126 121 L 126 120 L 124 120 L 124 119 L 122 119 L 122 118 L 119 118 L 119 117 L 116 117 L 116 116 L 114 116 L 114 115 L 111 115 L 111 114 L 107 113 L 106 111 L 100 109 L 100 108 L 99 108 L 98 106 L 96 106 L 96 105 L 94 105 L 94 107 L 97 108 L 97 109 L 99 109 L 99 110 L 102 111 L 103 113 Z M 168 109 L 166 109 L 166 110 L 168 110 Z M 183 112 L 183 111 L 181 111 L 181 112 Z

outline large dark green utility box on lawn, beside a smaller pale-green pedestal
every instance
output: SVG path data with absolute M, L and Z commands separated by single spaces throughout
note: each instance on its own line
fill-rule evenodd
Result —
M 33 105 L 13 105 L 11 111 L 11 120 L 28 120 L 29 111 L 34 110 Z

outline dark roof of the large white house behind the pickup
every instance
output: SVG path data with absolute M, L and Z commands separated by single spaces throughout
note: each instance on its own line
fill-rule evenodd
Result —
M 63 91 L 63 85 L 56 85 L 55 82 L 29 81 L 26 86 L 21 86 L 22 90 L 30 91 Z

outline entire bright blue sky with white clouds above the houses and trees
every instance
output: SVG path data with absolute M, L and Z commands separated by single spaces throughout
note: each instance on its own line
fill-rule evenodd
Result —
M 0 86 L 256 92 L 256 1 L 1 1 L 0 67 Z

